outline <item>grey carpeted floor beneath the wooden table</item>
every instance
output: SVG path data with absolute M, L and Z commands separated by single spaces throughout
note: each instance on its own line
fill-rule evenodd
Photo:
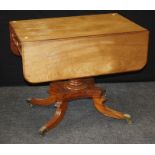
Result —
M 155 143 L 155 82 L 103 83 L 106 104 L 133 117 L 133 124 L 101 115 L 89 99 L 69 103 L 63 121 L 44 137 L 38 129 L 55 108 L 26 103 L 29 97 L 46 97 L 48 86 L 0 88 L 0 143 L 7 144 L 125 144 Z

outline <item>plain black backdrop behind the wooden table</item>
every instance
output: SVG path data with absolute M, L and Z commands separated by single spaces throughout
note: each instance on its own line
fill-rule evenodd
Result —
M 96 77 L 97 82 L 132 82 L 155 80 L 155 11 L 0 11 L 0 86 L 27 85 L 22 72 L 20 57 L 12 54 L 9 43 L 9 21 L 65 17 L 86 14 L 101 14 L 118 12 L 135 23 L 150 31 L 148 63 L 145 68 L 138 72 L 116 74 Z M 76 23 L 75 23 L 76 24 Z M 51 68 L 52 69 L 52 68 Z

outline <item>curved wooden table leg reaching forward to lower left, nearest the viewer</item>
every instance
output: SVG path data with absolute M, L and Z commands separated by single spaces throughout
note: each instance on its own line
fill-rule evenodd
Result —
M 44 135 L 47 131 L 54 128 L 63 119 L 67 106 L 67 102 L 59 102 L 59 106 L 57 106 L 54 116 L 40 128 L 39 133 L 41 135 Z

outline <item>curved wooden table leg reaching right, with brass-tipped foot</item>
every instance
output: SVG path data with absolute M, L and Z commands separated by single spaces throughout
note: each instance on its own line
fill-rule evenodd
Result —
M 129 114 L 124 114 L 122 112 L 109 108 L 108 106 L 103 104 L 105 101 L 106 98 L 104 96 L 99 98 L 93 98 L 94 106 L 100 113 L 116 119 L 126 119 L 128 123 L 131 123 L 131 116 Z

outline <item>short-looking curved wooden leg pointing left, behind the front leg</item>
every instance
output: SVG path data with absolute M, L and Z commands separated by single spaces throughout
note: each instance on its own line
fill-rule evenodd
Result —
M 27 99 L 27 102 L 30 103 L 30 105 L 48 106 L 54 104 L 56 102 L 56 98 L 54 96 L 49 96 L 45 99 L 31 98 Z

